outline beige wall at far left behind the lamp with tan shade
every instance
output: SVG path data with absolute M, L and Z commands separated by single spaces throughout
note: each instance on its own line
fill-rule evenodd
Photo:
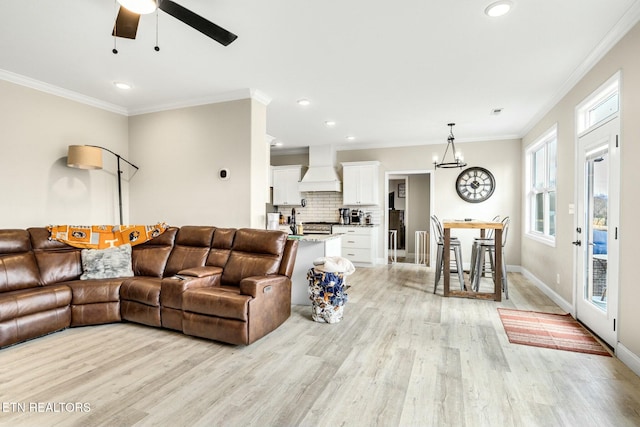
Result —
M 103 153 L 102 170 L 72 169 L 67 146 L 128 158 L 127 143 L 125 116 L 0 80 L 0 226 L 117 224 L 115 156 Z

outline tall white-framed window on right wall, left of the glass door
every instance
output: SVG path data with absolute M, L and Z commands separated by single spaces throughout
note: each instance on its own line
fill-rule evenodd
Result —
M 527 228 L 529 237 L 555 245 L 557 125 L 527 149 Z

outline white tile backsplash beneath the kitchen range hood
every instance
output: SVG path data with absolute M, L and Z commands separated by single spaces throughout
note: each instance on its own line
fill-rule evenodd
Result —
M 340 208 L 361 209 L 363 212 L 371 213 L 374 224 L 380 224 L 380 206 L 346 206 L 342 204 L 342 193 L 333 191 L 316 191 L 302 193 L 306 199 L 307 206 L 277 206 L 277 212 L 282 213 L 287 220 L 291 216 L 291 208 L 296 209 L 296 222 L 338 222 Z

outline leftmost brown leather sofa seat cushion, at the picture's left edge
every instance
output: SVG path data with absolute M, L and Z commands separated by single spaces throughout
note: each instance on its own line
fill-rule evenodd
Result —
M 0 294 L 0 322 L 34 313 L 67 307 L 71 302 L 71 288 L 50 285 Z

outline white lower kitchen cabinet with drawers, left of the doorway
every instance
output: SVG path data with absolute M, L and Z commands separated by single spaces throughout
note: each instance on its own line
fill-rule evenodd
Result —
M 334 225 L 342 234 L 342 256 L 356 265 L 374 265 L 377 258 L 378 226 Z

